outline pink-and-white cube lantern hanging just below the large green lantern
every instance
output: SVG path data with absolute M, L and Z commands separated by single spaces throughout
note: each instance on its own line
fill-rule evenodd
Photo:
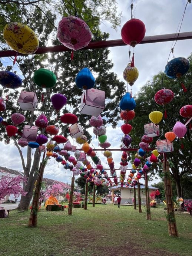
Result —
M 35 110 L 37 106 L 37 96 L 35 92 L 21 91 L 18 104 L 23 110 Z

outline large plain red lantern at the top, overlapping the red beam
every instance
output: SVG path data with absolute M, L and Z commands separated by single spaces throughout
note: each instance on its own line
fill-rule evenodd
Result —
M 126 22 L 121 30 L 123 42 L 135 47 L 145 36 L 145 24 L 139 19 L 130 19 Z

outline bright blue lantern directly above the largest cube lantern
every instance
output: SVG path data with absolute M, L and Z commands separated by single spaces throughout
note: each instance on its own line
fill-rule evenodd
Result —
M 77 74 L 75 83 L 78 88 L 88 90 L 95 86 L 95 78 L 88 68 L 83 68 Z

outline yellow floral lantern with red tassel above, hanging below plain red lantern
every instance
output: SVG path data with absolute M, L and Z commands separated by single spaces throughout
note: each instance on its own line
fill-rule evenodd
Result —
M 135 81 L 138 79 L 138 76 L 139 76 L 139 71 L 135 67 L 134 55 L 133 55 L 131 63 L 128 63 L 128 65 L 123 71 L 123 78 L 125 79 L 126 82 L 129 83 L 130 86 L 132 86 L 135 83 Z

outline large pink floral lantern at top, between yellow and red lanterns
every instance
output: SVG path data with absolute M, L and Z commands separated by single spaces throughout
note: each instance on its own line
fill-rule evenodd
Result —
M 57 37 L 67 48 L 79 50 L 89 44 L 92 34 L 82 19 L 70 15 L 60 20 Z

